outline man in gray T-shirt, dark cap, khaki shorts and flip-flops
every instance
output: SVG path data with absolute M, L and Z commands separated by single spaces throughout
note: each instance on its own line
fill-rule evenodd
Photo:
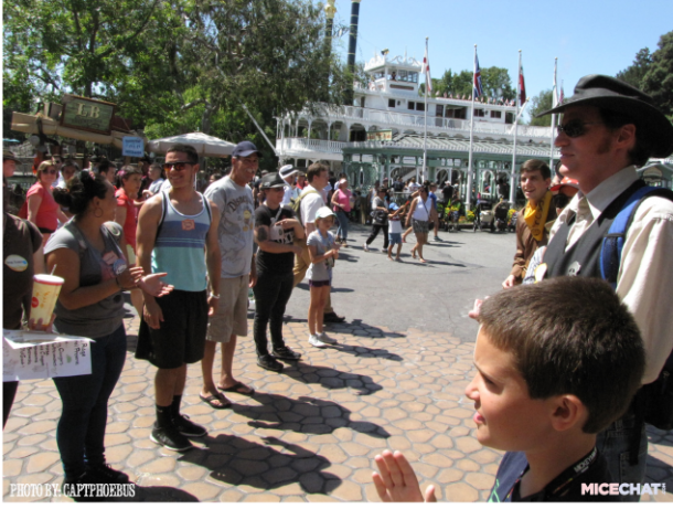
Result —
M 248 335 L 248 289 L 257 283 L 255 264 L 255 201 L 249 183 L 259 168 L 260 152 L 249 141 L 238 144 L 232 157 L 232 173 L 212 184 L 205 195 L 222 211 L 218 238 L 222 252 L 220 306 L 210 318 L 202 362 L 202 400 L 216 410 L 229 402 L 220 391 L 252 395 L 255 391 L 234 378 L 237 338 Z M 222 378 L 215 385 L 213 365 L 217 343 L 222 344 Z

